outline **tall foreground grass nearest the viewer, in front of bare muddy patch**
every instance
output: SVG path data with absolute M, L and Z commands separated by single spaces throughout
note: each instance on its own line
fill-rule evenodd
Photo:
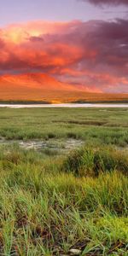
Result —
M 0 255 L 127 255 L 126 153 L 3 147 L 0 173 Z

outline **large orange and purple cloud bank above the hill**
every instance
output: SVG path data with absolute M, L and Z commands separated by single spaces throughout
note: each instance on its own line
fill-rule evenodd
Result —
M 74 88 L 128 92 L 128 20 L 15 24 L 0 29 L 1 73 L 47 73 Z

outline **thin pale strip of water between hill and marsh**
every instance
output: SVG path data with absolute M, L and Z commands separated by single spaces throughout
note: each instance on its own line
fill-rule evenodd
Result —
M 128 108 L 128 103 L 0 104 L 0 108 Z

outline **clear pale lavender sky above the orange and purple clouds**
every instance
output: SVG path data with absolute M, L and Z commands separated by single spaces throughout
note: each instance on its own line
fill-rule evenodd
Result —
M 114 1 L 114 0 L 112 0 Z M 124 6 L 99 8 L 81 0 L 0 0 L 0 26 L 30 20 L 108 20 L 126 17 Z M 107 2 L 107 1 L 106 1 Z

